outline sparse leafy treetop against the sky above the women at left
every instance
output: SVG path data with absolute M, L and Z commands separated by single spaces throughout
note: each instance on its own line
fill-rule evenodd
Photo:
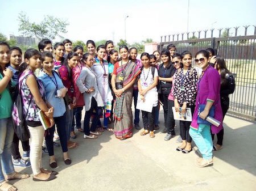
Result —
M 27 37 L 36 37 L 38 39 L 48 38 L 55 39 L 60 37 L 61 34 L 67 33 L 66 27 L 69 25 L 67 20 L 55 18 L 51 15 L 44 16 L 44 19 L 40 23 L 31 23 L 28 16 L 24 12 L 20 12 L 18 16 L 19 32 Z

